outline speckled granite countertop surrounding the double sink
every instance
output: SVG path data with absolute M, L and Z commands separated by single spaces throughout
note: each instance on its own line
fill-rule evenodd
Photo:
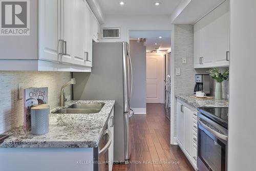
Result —
M 23 126 L 18 126 L 4 133 L 10 137 L 0 147 L 97 147 L 115 101 L 71 100 L 63 108 L 74 103 L 92 102 L 105 104 L 96 114 L 52 114 L 61 109 L 54 108 L 50 111 L 49 133 L 33 135 L 31 131 L 24 131 Z

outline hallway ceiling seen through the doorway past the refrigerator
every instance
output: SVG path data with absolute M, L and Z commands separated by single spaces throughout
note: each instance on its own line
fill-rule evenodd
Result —
M 130 39 L 146 38 L 144 46 L 147 51 L 159 49 L 167 51 L 170 49 L 170 30 L 134 30 L 130 31 Z M 161 36 L 162 38 L 159 38 Z M 157 43 L 157 45 L 155 45 Z

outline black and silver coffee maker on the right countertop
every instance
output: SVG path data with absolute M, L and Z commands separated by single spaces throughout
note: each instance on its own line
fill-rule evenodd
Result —
M 196 74 L 196 85 L 194 94 L 196 92 L 204 92 L 207 96 L 210 95 L 210 76 L 209 74 Z

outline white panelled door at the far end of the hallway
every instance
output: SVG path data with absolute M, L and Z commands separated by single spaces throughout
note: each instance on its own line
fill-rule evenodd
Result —
M 164 103 L 164 56 L 146 55 L 146 102 Z

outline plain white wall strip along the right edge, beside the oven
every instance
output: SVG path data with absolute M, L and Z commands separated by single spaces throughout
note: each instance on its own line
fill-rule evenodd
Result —
M 230 2 L 228 170 L 256 170 L 256 1 Z

